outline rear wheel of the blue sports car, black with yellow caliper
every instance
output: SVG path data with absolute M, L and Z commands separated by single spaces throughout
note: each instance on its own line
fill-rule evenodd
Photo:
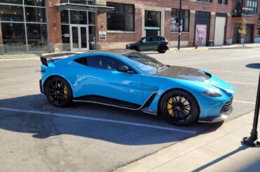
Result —
M 46 98 L 56 107 L 67 107 L 72 103 L 70 84 L 61 77 L 52 77 L 45 84 Z

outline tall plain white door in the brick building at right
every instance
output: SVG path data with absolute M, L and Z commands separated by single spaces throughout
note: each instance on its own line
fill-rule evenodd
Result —
M 216 17 L 214 46 L 223 46 L 225 37 L 226 18 Z

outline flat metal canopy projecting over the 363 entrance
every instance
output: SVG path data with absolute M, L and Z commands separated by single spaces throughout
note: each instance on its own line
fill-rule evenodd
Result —
M 112 6 L 104 6 L 104 5 L 85 5 L 85 4 L 71 4 L 71 3 L 61 3 L 55 4 L 57 7 L 57 11 L 64 11 L 64 10 L 82 10 L 82 11 L 91 11 L 98 13 L 106 13 L 109 11 L 113 11 L 114 7 Z

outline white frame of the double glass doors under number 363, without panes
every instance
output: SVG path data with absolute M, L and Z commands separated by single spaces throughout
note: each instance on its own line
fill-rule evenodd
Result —
M 79 48 L 73 48 L 73 33 L 72 27 L 77 27 L 78 29 L 78 41 L 79 41 Z M 86 48 L 82 48 L 82 34 L 81 34 L 81 27 L 86 28 Z M 89 51 L 89 25 L 70 25 L 70 51 Z

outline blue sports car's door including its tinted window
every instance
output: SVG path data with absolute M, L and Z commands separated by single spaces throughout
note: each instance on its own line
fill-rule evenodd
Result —
M 124 62 L 109 55 L 86 57 L 87 66 L 82 71 L 82 91 L 84 95 L 99 95 L 116 100 L 143 104 L 143 84 L 141 75 L 132 71 L 118 72 Z M 131 69 L 130 69 L 131 70 Z

